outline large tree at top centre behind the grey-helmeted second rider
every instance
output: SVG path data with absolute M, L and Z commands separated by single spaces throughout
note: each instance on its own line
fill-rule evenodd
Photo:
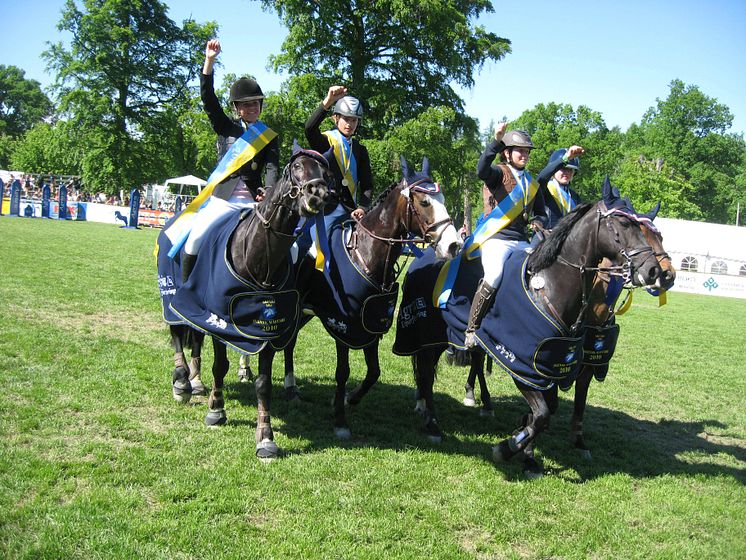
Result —
M 451 84 L 473 86 L 486 61 L 510 52 L 507 39 L 473 24 L 493 11 L 486 0 L 259 1 L 289 31 L 274 68 L 348 85 L 366 105 L 374 138 L 428 107 L 462 112 Z

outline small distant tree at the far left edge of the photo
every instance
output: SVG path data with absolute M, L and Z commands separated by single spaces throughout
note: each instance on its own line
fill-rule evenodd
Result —
M 13 138 L 51 116 L 53 109 L 41 84 L 25 75 L 16 66 L 0 64 L 0 134 Z

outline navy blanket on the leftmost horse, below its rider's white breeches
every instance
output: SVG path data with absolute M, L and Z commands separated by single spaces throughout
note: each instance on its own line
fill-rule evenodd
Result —
M 164 319 L 190 325 L 244 354 L 256 354 L 267 343 L 281 349 L 290 342 L 298 324 L 300 297 L 295 271 L 288 264 L 283 280 L 269 291 L 240 277 L 228 258 L 228 246 L 241 217 L 236 212 L 214 225 L 183 285 L 179 257 L 168 258 L 170 242 L 161 233 L 158 284 Z

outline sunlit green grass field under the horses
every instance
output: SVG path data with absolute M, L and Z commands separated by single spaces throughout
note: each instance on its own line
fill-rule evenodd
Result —
M 593 460 L 569 445 L 563 395 L 537 481 L 490 461 L 525 411 L 512 382 L 489 378 L 496 416 L 481 418 L 461 404 L 466 370 L 442 364 L 447 437 L 429 444 L 391 334 L 337 441 L 334 347 L 313 321 L 296 357 L 304 404 L 282 399 L 275 363 L 286 455 L 265 465 L 235 367 L 222 429 L 204 427 L 204 399 L 171 397 L 156 235 L 0 218 L 0 557 L 746 558 L 746 301 L 637 294 L 591 387 Z M 351 383 L 363 367 L 353 353 Z

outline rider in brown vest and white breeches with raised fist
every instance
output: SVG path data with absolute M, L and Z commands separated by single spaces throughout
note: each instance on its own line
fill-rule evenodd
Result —
M 484 277 L 479 281 L 469 312 L 465 332 L 467 348 L 476 345 L 474 333 L 500 284 L 505 261 L 513 251 L 529 247 L 529 215 L 535 211 L 532 207 L 539 190 L 537 182 L 526 171 L 534 144 L 522 130 L 506 133 L 506 128 L 505 122 L 497 125 L 494 140 L 482 152 L 477 164 L 477 175 L 484 181 L 484 214 L 474 239 L 481 250 Z M 492 165 L 498 154 L 500 163 Z

